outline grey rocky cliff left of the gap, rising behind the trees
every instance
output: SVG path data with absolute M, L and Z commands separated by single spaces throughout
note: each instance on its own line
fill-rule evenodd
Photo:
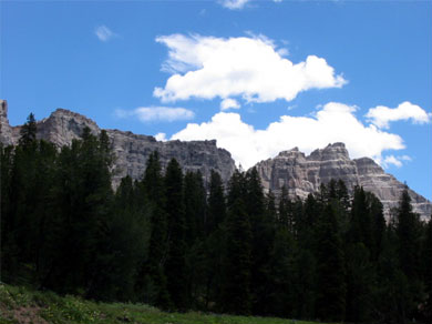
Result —
M 6 144 L 16 144 L 19 140 L 20 126 L 11 128 L 9 125 L 7 102 L 1 101 L 0 104 L 2 126 L 0 141 Z M 101 132 L 101 129 L 91 119 L 65 109 L 58 109 L 49 118 L 38 122 L 38 138 L 61 148 L 70 144 L 73 139 L 79 139 L 85 126 L 89 126 L 93 134 Z M 199 170 L 206 180 L 209 179 L 213 169 L 219 172 L 222 179 L 227 182 L 235 170 L 235 162 L 230 153 L 218 149 L 216 141 L 160 142 L 153 136 L 136 135 L 131 132 L 119 130 L 106 130 L 106 132 L 116 155 L 114 185 L 117 185 L 125 175 L 141 179 L 148 155 L 156 150 L 161 155 L 163 166 L 166 166 L 169 160 L 175 158 L 184 170 Z

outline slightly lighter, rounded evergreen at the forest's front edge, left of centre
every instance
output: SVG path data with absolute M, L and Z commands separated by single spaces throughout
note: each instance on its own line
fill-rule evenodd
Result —
M 104 301 L 135 300 L 138 265 L 147 250 L 148 212 L 136 203 L 130 176 L 123 178 L 115 194 L 112 213 L 97 239 L 95 266 L 97 275 L 88 295 Z

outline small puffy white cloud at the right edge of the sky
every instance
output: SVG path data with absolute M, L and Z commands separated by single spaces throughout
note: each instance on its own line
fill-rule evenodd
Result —
M 368 111 L 366 117 L 378 128 L 389 129 L 389 123 L 400 120 L 411 120 L 413 123 L 428 123 L 431 121 L 431 113 L 409 101 L 402 102 L 398 108 L 378 105 Z

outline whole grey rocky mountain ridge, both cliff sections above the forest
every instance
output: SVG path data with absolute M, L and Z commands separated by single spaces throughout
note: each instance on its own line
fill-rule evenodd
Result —
M 93 134 L 101 129 L 91 119 L 65 110 L 58 109 L 49 118 L 38 122 L 38 138 L 53 142 L 61 148 L 73 139 L 79 139 L 82 130 L 89 126 Z M 11 126 L 8 121 L 8 103 L 0 100 L 0 142 L 16 144 L 21 126 Z M 106 130 L 116 155 L 114 185 L 130 175 L 140 179 L 145 170 L 148 155 L 157 150 L 161 162 L 165 166 L 175 158 L 184 170 L 199 170 L 206 180 L 210 170 L 220 173 L 226 183 L 235 170 L 235 161 L 228 151 L 218 149 L 216 141 L 156 141 L 153 136 L 137 135 L 132 132 Z M 317 192 L 321 183 L 330 179 L 341 179 L 351 191 L 354 185 L 362 185 L 373 192 L 383 203 L 385 212 L 398 205 L 404 184 L 391 174 L 385 173 L 380 165 L 369 158 L 351 160 L 343 143 L 329 144 L 327 148 L 313 151 L 306 156 L 297 148 L 280 152 L 276 158 L 256 164 L 265 190 L 271 190 L 276 195 L 284 185 L 289 194 L 305 199 L 309 193 Z M 423 219 L 432 213 L 430 201 L 410 190 L 414 211 Z

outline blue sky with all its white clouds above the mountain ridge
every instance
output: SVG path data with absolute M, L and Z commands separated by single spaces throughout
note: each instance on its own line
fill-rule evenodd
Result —
M 12 125 L 218 140 L 249 166 L 347 143 L 432 198 L 431 1 L 2 1 Z

